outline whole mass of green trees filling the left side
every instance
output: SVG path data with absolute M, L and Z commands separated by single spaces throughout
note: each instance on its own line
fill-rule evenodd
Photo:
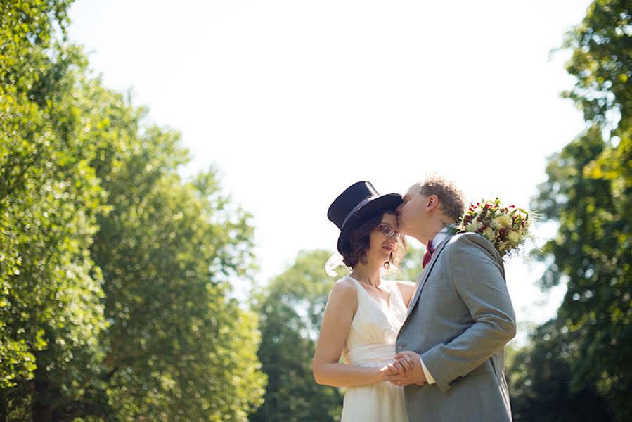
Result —
M 55 36 L 69 3 L 0 5 L 0 420 L 245 421 L 250 215 L 89 77 Z

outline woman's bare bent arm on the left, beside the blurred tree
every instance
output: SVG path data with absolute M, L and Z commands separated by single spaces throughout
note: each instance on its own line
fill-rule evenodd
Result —
M 343 279 L 335 283 L 327 300 L 312 362 L 316 383 L 332 387 L 356 387 L 387 380 L 380 368 L 338 363 L 357 306 L 358 292 L 353 282 Z

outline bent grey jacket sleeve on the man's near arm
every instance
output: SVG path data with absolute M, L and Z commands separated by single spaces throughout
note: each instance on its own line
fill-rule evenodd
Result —
M 473 324 L 449 343 L 436 345 L 421 356 L 442 391 L 482 365 L 516 333 L 503 264 L 494 246 L 476 234 L 461 235 L 451 246 L 446 257 L 451 279 Z

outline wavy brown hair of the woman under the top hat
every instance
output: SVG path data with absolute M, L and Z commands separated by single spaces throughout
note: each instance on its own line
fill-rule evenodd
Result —
M 366 251 L 370 248 L 370 234 L 376 227 L 382 222 L 382 217 L 385 214 L 395 214 L 394 210 L 387 210 L 381 214 L 375 215 L 367 219 L 362 224 L 359 224 L 349 234 L 349 244 L 351 248 L 342 252 L 342 262 L 349 268 L 354 268 L 359 262 L 366 264 Z M 404 236 L 397 243 L 395 248 L 389 257 L 389 260 L 384 263 L 384 268 L 388 271 L 395 270 L 399 267 L 401 259 L 406 255 L 406 239 Z

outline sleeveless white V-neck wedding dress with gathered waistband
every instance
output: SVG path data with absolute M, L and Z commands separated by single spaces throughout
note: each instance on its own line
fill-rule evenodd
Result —
M 368 294 L 359 281 L 347 276 L 358 290 L 358 309 L 344 343 L 348 365 L 381 368 L 393 362 L 395 340 L 406 319 L 406 305 L 395 281 L 382 281 L 390 290 L 389 308 Z M 404 388 L 388 381 L 349 387 L 344 394 L 341 422 L 408 422 Z

